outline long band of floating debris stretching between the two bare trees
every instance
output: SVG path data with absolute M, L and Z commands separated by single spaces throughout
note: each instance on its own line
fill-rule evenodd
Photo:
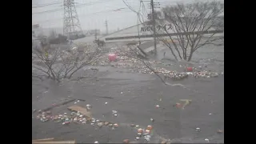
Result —
M 198 68 L 196 67 L 186 67 L 179 65 L 179 67 L 183 67 L 186 72 L 178 72 L 178 71 L 172 71 L 172 70 L 166 70 L 165 68 L 159 67 L 157 65 L 162 66 L 172 66 L 172 64 L 164 64 L 162 62 L 158 61 L 149 61 L 144 60 L 146 63 L 150 63 L 150 66 L 152 66 L 152 69 L 154 69 L 154 72 L 150 70 L 143 62 L 140 60 L 133 58 L 137 57 L 135 54 L 136 51 L 126 50 L 125 48 L 122 48 L 122 50 L 117 48 L 112 48 L 110 50 L 110 54 L 117 54 L 117 60 L 115 62 L 110 62 L 108 59 L 108 54 L 104 54 L 101 58 L 98 59 L 98 61 L 95 61 L 92 65 L 93 66 L 116 66 L 118 68 L 125 68 L 129 69 L 132 72 L 138 72 L 142 74 L 164 74 L 165 78 L 170 78 L 172 80 L 182 80 L 184 78 L 188 78 L 189 76 L 194 78 L 214 78 L 218 77 L 218 73 L 211 72 L 210 70 L 202 70 L 200 69 L 200 66 Z M 188 72 L 189 71 L 189 72 Z

